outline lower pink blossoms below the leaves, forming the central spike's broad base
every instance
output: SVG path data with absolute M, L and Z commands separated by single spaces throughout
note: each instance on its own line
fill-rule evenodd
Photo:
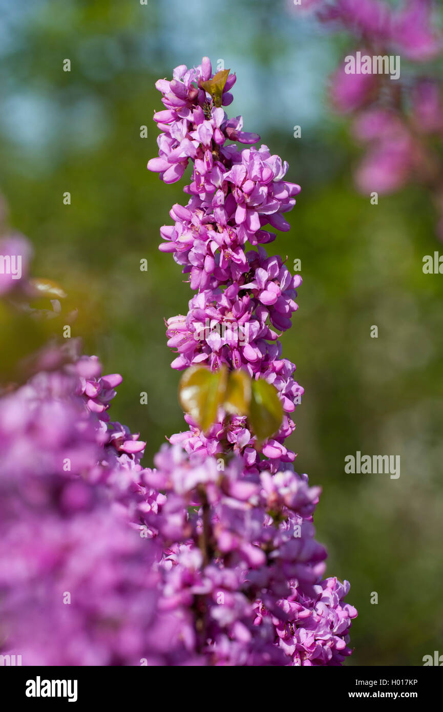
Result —
M 238 457 L 221 469 L 177 445 L 155 464 L 143 481 L 167 497 L 147 517 L 166 546 L 160 609 L 189 651 L 214 665 L 341 664 L 357 612 L 343 602 L 348 582 L 321 581 L 320 489 L 293 471 L 245 476 Z

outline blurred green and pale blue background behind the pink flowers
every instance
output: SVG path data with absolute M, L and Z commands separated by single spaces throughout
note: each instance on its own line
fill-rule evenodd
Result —
M 236 72 L 229 115 L 242 114 L 302 186 L 291 231 L 269 253 L 301 260 L 299 310 L 282 339 L 306 389 L 291 439 L 297 470 L 323 486 L 328 575 L 350 580 L 359 609 L 346 664 L 443 654 L 443 277 L 422 272 L 443 246 L 424 190 L 376 206 L 355 192 L 358 149 L 325 99 L 345 36 L 284 0 L 0 0 L 0 16 L 8 221 L 33 241 L 33 273 L 79 295 L 73 336 L 123 374 L 113 419 L 141 431 L 146 466 L 184 429 L 163 320 L 191 296 L 157 250 L 170 206 L 187 198 L 183 181 L 168 187 L 146 170 L 162 106 L 154 83 L 204 55 Z M 400 455 L 400 478 L 345 474 L 358 450 Z

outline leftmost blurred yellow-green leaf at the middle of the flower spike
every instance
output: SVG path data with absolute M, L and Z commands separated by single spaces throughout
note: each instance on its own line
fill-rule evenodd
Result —
M 217 420 L 217 409 L 224 402 L 227 369 L 210 371 L 202 366 L 191 366 L 179 382 L 179 403 L 203 432 Z

